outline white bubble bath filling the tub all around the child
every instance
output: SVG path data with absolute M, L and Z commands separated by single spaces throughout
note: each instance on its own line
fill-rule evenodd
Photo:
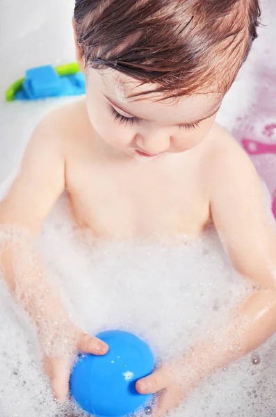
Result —
M 1 62 L 8 67 L 1 73 L 2 96 L 27 67 L 74 60 L 73 6 L 72 0 L 39 5 L 29 0 L 24 6 L 20 0 L 0 0 L 0 33 L 9 35 L 0 47 Z M 238 140 L 274 140 L 264 128 L 276 122 L 276 60 L 271 50 L 275 12 L 273 0 L 263 1 L 267 27 L 260 28 L 260 38 L 218 115 L 218 122 Z M 70 100 L 0 103 L 0 197 L 13 180 L 35 124 L 51 108 Z M 275 158 L 254 157 L 271 193 L 276 188 Z M 160 361 L 179 357 L 210 329 L 222 327 L 229 311 L 252 291 L 212 228 L 191 243 L 95 241 L 76 228 L 66 195 L 44 225 L 40 245 L 76 324 L 92 334 L 112 328 L 134 332 Z M 206 378 L 170 416 L 275 416 L 275 347 L 273 337 L 257 352 Z M 1 417 L 83 416 L 71 405 L 60 407 L 54 401 L 37 336 L 2 280 L 0 358 Z

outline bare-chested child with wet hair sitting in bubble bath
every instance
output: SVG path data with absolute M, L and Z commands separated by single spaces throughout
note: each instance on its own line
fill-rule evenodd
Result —
M 258 0 L 76 0 L 86 100 L 35 129 L 0 206 L 3 231 L 21 236 L 3 238 L 6 281 L 35 321 L 58 399 L 72 353 L 108 350 L 70 322 L 31 240 L 63 190 L 79 226 L 99 238 L 193 239 L 213 222 L 236 269 L 256 284 L 222 333 L 136 384 L 162 392 L 156 416 L 275 332 L 275 224 L 252 163 L 215 123 L 258 18 Z

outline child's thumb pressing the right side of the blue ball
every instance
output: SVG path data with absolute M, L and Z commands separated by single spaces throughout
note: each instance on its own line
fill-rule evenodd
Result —
M 140 394 L 154 394 L 170 385 L 170 373 L 165 368 L 159 368 L 154 373 L 139 379 L 136 390 Z

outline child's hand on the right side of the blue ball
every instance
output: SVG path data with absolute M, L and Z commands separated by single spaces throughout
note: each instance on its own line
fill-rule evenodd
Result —
M 170 409 L 177 407 L 194 388 L 195 384 L 192 381 L 190 383 L 181 381 L 181 369 L 183 369 L 183 361 L 174 361 L 137 382 L 136 389 L 139 393 L 158 393 L 155 417 L 161 417 Z

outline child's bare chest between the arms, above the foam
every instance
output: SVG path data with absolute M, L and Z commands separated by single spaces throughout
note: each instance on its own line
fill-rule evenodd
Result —
M 99 237 L 198 236 L 209 222 L 209 201 L 195 172 L 145 165 L 69 165 L 76 220 Z

